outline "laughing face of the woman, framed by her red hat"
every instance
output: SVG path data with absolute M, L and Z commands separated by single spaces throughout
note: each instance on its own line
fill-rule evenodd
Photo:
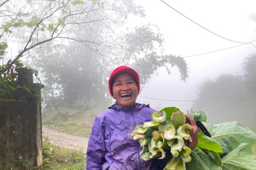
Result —
M 118 74 L 113 81 L 113 96 L 119 106 L 133 106 L 138 96 L 138 87 L 131 74 Z

